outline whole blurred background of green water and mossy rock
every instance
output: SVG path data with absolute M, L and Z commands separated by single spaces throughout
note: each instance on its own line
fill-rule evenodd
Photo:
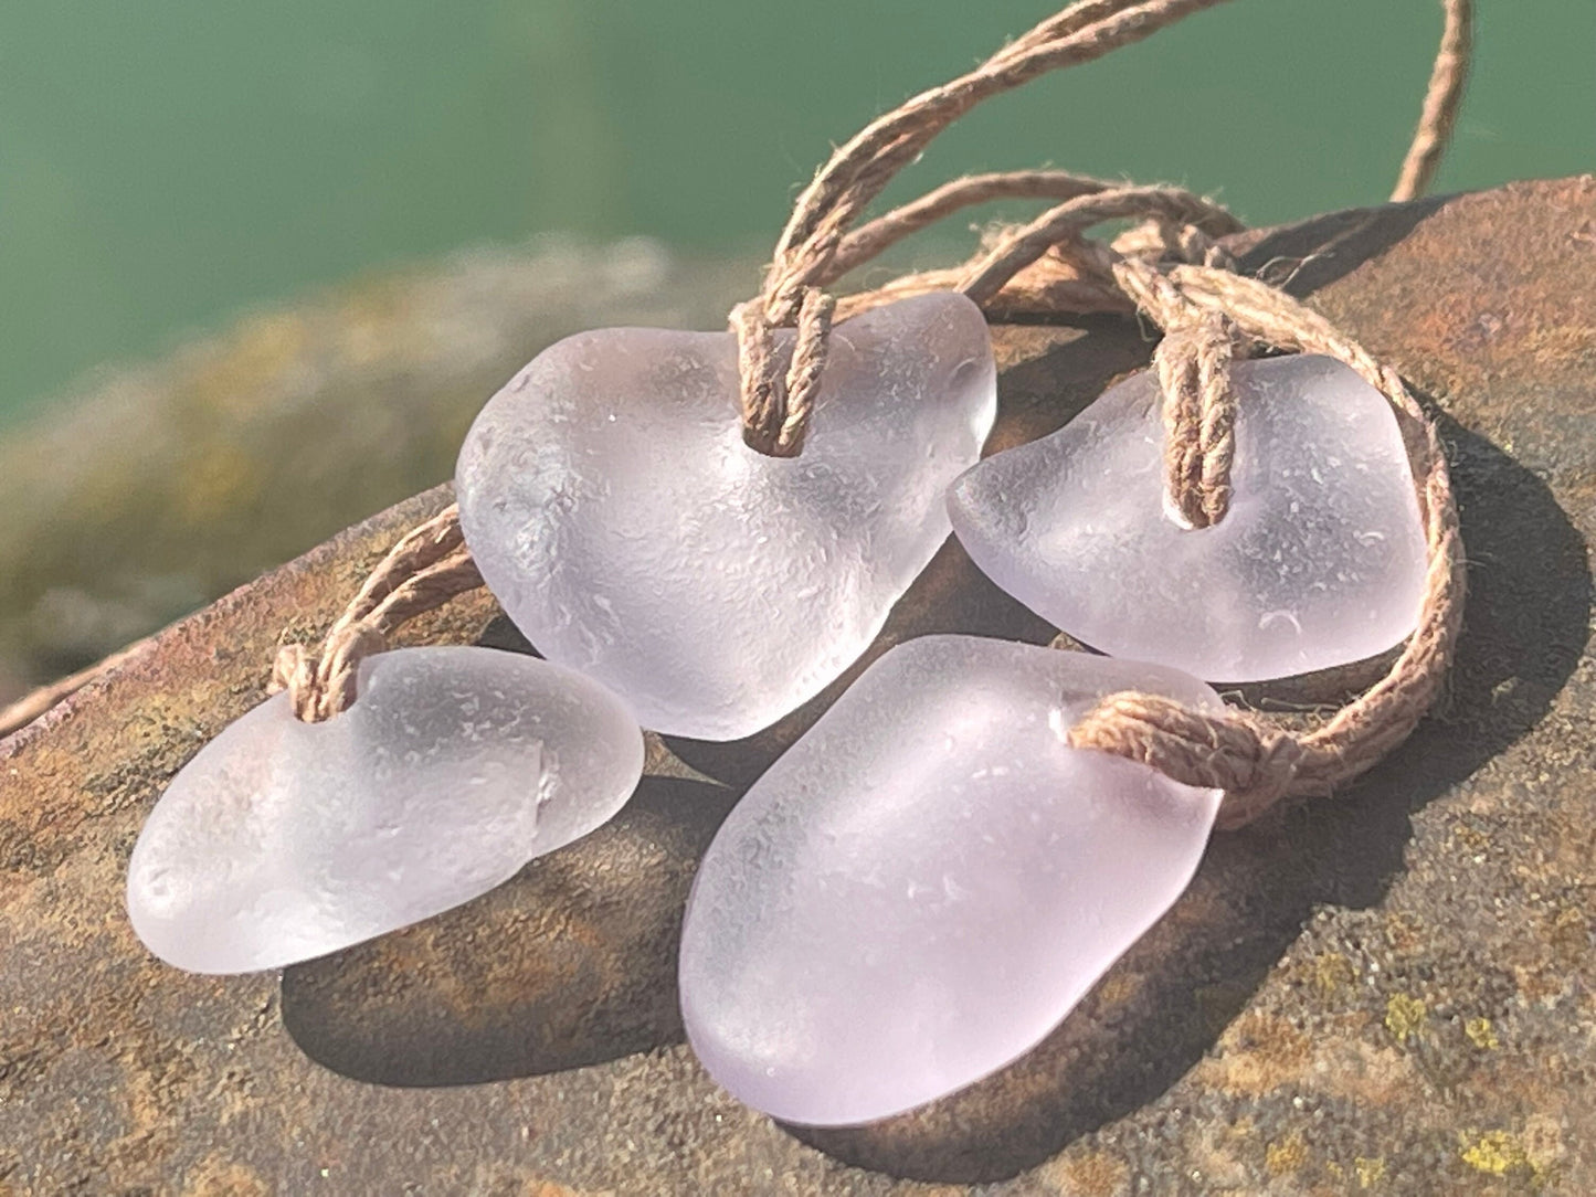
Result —
M 0 702 L 444 480 L 551 340 L 718 326 L 833 142 L 1053 8 L 0 0 Z M 1596 2 L 1478 8 L 1438 188 L 1591 169 Z M 887 200 L 1053 164 L 1253 223 L 1379 203 L 1440 26 L 1234 0 L 991 101 Z

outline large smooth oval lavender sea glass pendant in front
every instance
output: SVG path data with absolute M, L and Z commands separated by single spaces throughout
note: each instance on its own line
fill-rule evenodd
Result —
M 681 934 L 699 1060 L 811 1125 L 902 1112 L 1037 1044 L 1186 887 L 1219 792 L 1071 749 L 1160 666 L 977 637 L 887 651 L 755 782 Z

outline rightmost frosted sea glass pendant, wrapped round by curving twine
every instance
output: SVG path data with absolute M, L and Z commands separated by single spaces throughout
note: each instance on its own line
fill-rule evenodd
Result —
M 1238 362 L 1234 495 L 1195 530 L 1165 501 L 1157 381 L 1138 373 L 950 492 L 959 541 L 1082 643 L 1210 681 L 1376 656 L 1412 632 L 1425 543 L 1389 401 L 1333 358 Z

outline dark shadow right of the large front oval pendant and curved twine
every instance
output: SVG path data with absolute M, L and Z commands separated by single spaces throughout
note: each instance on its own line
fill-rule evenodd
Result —
M 1218 836 L 1191 889 L 1037 1049 L 986 1080 L 868 1127 L 790 1127 L 843 1162 L 895 1176 L 1015 1176 L 1154 1101 L 1207 1053 L 1314 908 L 1377 903 L 1412 816 L 1547 713 L 1588 635 L 1583 543 L 1547 487 L 1441 420 L 1470 598 L 1441 707 L 1344 796 Z

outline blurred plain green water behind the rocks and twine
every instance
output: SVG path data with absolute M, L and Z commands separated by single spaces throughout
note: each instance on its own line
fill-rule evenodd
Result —
M 833 140 L 1049 0 L 5 0 L 0 418 L 249 305 L 543 230 L 753 260 Z M 1596 3 L 1481 0 L 1440 187 L 1596 164 Z M 1237 0 L 902 180 L 1052 163 L 1251 222 L 1389 190 L 1433 0 Z

